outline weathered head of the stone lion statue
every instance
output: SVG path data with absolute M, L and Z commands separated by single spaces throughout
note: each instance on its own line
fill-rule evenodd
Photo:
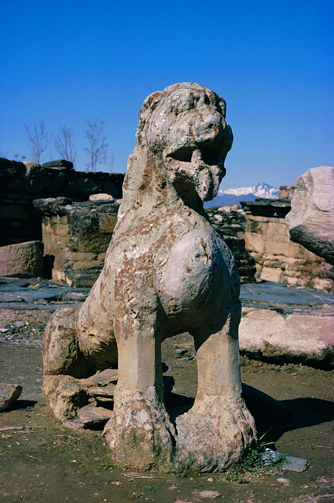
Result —
M 148 96 L 141 108 L 134 160 L 143 153 L 176 190 L 195 190 L 202 201 L 217 195 L 233 134 L 221 96 L 193 82 Z M 147 162 L 144 166 L 147 166 Z M 135 167 L 135 166 L 133 166 Z M 137 168 L 138 169 L 138 168 Z

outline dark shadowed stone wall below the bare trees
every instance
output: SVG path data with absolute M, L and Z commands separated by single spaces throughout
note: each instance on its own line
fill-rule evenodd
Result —
M 34 199 L 62 196 L 80 202 L 100 192 L 121 198 L 123 180 L 119 173 L 74 171 L 73 164 L 65 160 L 41 166 L 0 158 L 0 246 L 42 238 Z

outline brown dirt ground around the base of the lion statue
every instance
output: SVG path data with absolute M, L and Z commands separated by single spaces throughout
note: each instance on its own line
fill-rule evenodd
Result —
M 204 490 L 217 491 L 217 502 L 334 501 L 334 371 L 241 359 L 243 382 L 286 404 L 294 415 L 293 423 L 285 424 L 284 418 L 271 413 L 270 408 L 257 406 L 252 412 L 259 436 L 269 430 L 265 440 L 274 441 L 275 448 L 284 455 L 307 459 L 310 466 L 306 471 L 275 471 L 253 477 L 247 484 L 227 480 L 222 473 L 127 477 L 124 474 L 133 472 L 115 466 L 101 431 L 69 430 L 55 419 L 46 404 L 41 339 L 49 316 L 47 310 L 0 310 L 2 326 L 25 322 L 0 342 L 1 382 L 23 387 L 19 400 L 0 413 L 0 495 L 6 503 L 118 503 L 132 498 L 157 503 L 205 503 L 210 499 L 200 496 Z M 192 356 L 189 336 L 163 343 L 163 361 L 169 367 L 165 375 L 175 380 L 168 399 L 171 415 L 180 413 L 181 407 L 189 408 L 196 394 L 196 361 Z M 289 482 L 278 482 L 278 477 Z

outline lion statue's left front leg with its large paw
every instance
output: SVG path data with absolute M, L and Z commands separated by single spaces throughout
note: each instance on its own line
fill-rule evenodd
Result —
M 122 303 L 123 304 L 123 303 Z M 139 470 L 165 469 L 174 451 L 175 430 L 163 400 L 161 333 L 156 308 L 116 311 L 119 380 L 114 416 L 104 428 L 115 457 Z

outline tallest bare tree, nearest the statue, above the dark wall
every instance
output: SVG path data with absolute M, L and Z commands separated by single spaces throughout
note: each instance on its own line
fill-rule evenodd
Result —
M 104 162 L 105 165 L 108 144 L 105 141 L 106 135 L 103 136 L 104 121 L 94 119 L 93 121 L 87 121 L 87 124 L 88 129 L 85 131 L 85 137 L 88 139 L 89 148 L 85 147 L 84 151 L 89 155 L 89 162 L 85 165 L 87 171 L 95 172 L 98 163 L 103 165 Z

